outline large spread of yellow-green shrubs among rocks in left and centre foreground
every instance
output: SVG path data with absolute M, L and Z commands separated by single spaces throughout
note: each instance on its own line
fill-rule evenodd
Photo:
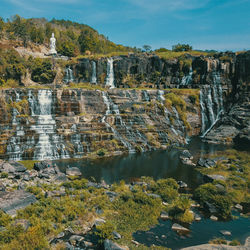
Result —
M 28 186 L 27 191 L 32 192 L 38 201 L 19 210 L 14 219 L 0 211 L 0 226 L 5 227 L 0 231 L 0 248 L 47 249 L 48 240 L 64 229 L 71 227 L 75 232 L 82 232 L 88 227 L 98 217 L 96 208 L 103 211 L 102 217 L 106 221 L 97 226 L 96 234 L 100 241 L 112 239 L 131 249 L 134 249 L 132 234 L 157 224 L 163 210 L 169 211 L 175 220 L 191 221 L 187 217 L 190 200 L 178 193 L 175 180 L 156 182 L 144 177 L 141 181 L 145 185 L 134 185 L 132 189 L 124 181 L 113 184 L 110 191 L 117 194 L 113 201 L 106 194 L 106 189 L 88 187 L 86 179 L 71 180 L 60 185 Z M 54 194 L 63 191 L 64 194 L 55 198 L 49 195 L 52 191 Z M 155 196 L 156 193 L 160 196 Z M 167 207 L 162 205 L 163 200 L 169 203 Z M 15 223 L 15 219 L 25 220 L 29 224 L 28 229 Z M 119 232 L 122 238 L 115 240 L 113 231 Z M 138 249 L 147 247 L 140 245 Z

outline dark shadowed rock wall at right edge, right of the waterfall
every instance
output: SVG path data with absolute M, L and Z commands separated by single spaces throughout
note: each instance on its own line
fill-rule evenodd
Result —
M 250 52 L 237 55 L 232 77 L 232 90 L 227 112 L 211 130 L 206 140 L 214 143 L 234 143 L 250 149 Z

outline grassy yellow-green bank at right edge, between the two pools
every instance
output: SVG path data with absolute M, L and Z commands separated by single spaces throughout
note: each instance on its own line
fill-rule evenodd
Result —
M 222 218 L 231 216 L 231 207 L 237 203 L 250 203 L 250 156 L 247 152 L 227 150 L 214 155 L 223 156 L 213 168 L 198 168 L 203 174 L 222 175 L 225 181 L 213 181 L 196 189 L 194 198 L 205 205 L 214 205 Z

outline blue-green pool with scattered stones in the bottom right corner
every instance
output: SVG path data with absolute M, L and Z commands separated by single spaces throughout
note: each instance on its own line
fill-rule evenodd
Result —
M 149 231 L 138 231 L 133 237 L 136 241 L 151 246 L 164 246 L 175 249 L 206 244 L 214 238 L 224 238 L 226 240 L 237 239 L 244 244 L 245 239 L 250 235 L 250 219 L 238 217 L 231 221 L 212 221 L 202 216 L 200 222 L 193 222 L 190 226 L 190 233 L 180 236 L 171 229 L 171 221 L 159 221 L 159 224 Z M 232 233 L 231 236 L 223 236 L 221 230 Z

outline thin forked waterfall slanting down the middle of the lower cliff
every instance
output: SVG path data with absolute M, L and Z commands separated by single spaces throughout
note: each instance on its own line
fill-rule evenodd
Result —
M 135 149 L 133 148 L 133 146 L 128 142 L 126 141 L 122 135 L 113 127 L 111 126 L 107 121 L 106 121 L 106 118 L 108 115 L 111 115 L 111 114 L 115 114 L 116 115 L 116 119 L 119 121 L 121 127 L 123 129 L 125 129 L 127 132 L 129 132 L 126 124 L 123 122 L 121 116 L 120 116 L 120 111 L 118 109 L 118 106 L 116 104 L 114 104 L 112 102 L 112 100 L 109 98 L 108 94 L 104 91 L 102 91 L 102 98 L 103 98 L 103 102 L 105 103 L 105 105 L 107 106 L 107 109 L 106 109 L 106 112 L 105 112 L 105 115 L 103 116 L 102 118 L 102 122 L 105 123 L 106 127 L 111 129 L 111 131 L 114 133 L 115 137 L 122 142 L 122 144 L 128 148 L 128 151 L 129 153 L 135 153 Z

